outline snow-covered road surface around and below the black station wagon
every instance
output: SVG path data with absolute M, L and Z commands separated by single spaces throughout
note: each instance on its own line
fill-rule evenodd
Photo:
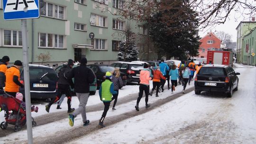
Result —
M 236 68 L 239 90 L 185 94 L 70 144 L 255 144 L 256 69 Z

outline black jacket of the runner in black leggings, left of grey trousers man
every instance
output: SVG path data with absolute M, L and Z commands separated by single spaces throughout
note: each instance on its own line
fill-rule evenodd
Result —
M 71 67 L 67 64 L 64 64 L 63 67 L 58 72 L 58 84 L 69 85 L 68 74 L 71 72 Z

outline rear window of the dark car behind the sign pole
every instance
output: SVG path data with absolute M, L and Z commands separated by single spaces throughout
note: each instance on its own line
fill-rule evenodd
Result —
M 24 71 L 21 72 L 20 78 L 24 78 Z M 44 77 L 42 77 L 45 75 Z M 48 81 L 57 81 L 58 77 L 54 69 L 44 69 L 44 68 L 29 68 L 29 78 L 30 80 L 39 80 L 42 77 L 42 80 Z

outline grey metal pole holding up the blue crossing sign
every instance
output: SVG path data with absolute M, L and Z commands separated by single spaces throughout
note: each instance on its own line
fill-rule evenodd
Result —
M 22 29 L 22 48 L 23 48 L 23 71 L 24 71 L 24 88 L 26 99 L 26 117 L 27 117 L 27 143 L 33 144 L 32 134 L 32 117 L 31 117 L 31 100 L 29 86 L 29 67 L 28 67 L 28 48 L 27 48 L 27 19 L 21 19 Z

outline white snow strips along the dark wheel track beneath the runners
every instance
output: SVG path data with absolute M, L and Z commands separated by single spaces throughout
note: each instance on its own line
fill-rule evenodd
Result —
M 167 85 L 167 82 L 165 83 L 165 85 Z M 152 86 L 152 81 L 150 81 L 150 88 L 152 89 L 152 87 L 153 87 Z M 189 89 L 191 87 L 193 87 L 193 85 L 187 85 L 186 89 Z M 176 87 L 176 90 L 174 91 L 174 94 L 177 93 L 177 92 L 181 92 L 182 89 L 183 89 L 183 87 L 181 85 L 178 85 Z M 122 90 L 119 90 L 119 98 L 128 96 L 128 94 L 134 94 L 134 93 L 136 93 L 136 94 L 138 93 L 138 85 L 128 85 L 128 86 L 123 87 Z M 148 102 L 149 103 L 154 103 L 158 99 L 165 99 L 166 97 L 171 95 L 171 90 L 165 90 L 164 92 L 161 92 L 158 95 L 159 95 L 159 97 L 155 97 L 155 94 L 153 94 L 152 97 L 149 96 L 149 101 Z M 145 100 L 144 99 L 145 98 L 142 98 L 142 100 L 140 102 L 140 108 L 145 108 Z M 102 103 L 100 101 L 98 93 L 96 93 L 95 96 L 91 96 L 88 100 L 88 105 L 93 105 L 93 104 L 98 104 L 98 103 Z M 73 107 L 76 108 L 76 106 L 78 106 L 78 104 L 79 104 L 79 102 L 78 102 L 77 98 L 73 97 L 72 98 Z M 37 116 L 46 114 L 45 105 L 46 104 L 42 104 L 42 105 L 39 106 L 39 108 L 42 109 L 40 111 L 40 113 L 39 112 L 38 113 L 33 112 L 32 114 L 38 114 Z M 126 104 L 117 105 L 116 106 L 116 108 L 117 108 L 116 111 L 112 111 L 111 108 L 110 108 L 110 110 L 108 111 L 107 117 L 117 116 L 119 114 L 123 114 L 123 113 L 128 112 L 128 111 L 135 111 L 136 112 L 136 110 L 134 108 L 135 105 L 136 105 L 136 100 L 130 101 Z M 62 107 L 63 107 L 63 109 L 67 109 L 67 108 L 65 108 L 65 99 L 64 99 L 64 104 L 62 104 Z M 104 107 L 103 104 L 102 104 L 102 107 Z M 51 107 L 50 112 L 58 111 L 55 108 L 56 108 L 56 104 L 53 105 L 53 107 Z M 96 111 L 96 112 L 87 113 L 87 118 L 90 121 L 99 120 L 101 118 L 102 112 L 103 111 Z M 107 117 L 106 117 L 106 119 L 107 119 Z M 68 118 L 56 121 L 54 123 L 49 123 L 49 124 L 46 124 L 46 125 L 43 125 L 43 126 L 33 127 L 33 137 L 34 138 L 39 137 L 42 134 L 44 134 L 44 135 L 54 135 L 55 133 L 57 133 L 60 130 L 72 130 L 72 129 L 74 129 L 78 126 L 81 126 L 81 125 L 82 125 L 82 117 L 81 117 L 81 115 L 78 115 L 75 118 L 73 127 L 68 125 Z M 60 126 L 61 126 L 61 129 L 60 129 Z M 0 143 L 1 142 L 7 142 L 7 141 L 12 142 L 13 137 L 15 137 L 15 141 L 17 141 L 17 140 L 26 140 L 27 139 L 27 133 L 24 133 L 24 132 L 25 132 L 25 130 L 17 132 L 17 133 L 10 134 L 6 137 L 1 137 L 0 138 Z

